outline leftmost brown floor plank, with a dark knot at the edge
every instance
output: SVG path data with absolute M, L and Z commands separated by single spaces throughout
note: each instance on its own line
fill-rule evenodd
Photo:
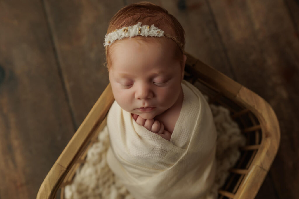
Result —
M 0 8 L 0 198 L 36 198 L 74 127 L 42 4 Z

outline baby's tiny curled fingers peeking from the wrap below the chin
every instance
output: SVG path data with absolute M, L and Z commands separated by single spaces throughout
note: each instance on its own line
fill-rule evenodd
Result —
M 162 124 L 162 122 L 154 119 L 147 120 L 136 114 L 132 114 L 132 117 L 137 124 L 144 126 L 147 130 L 156 133 L 162 138 L 170 141 L 171 133 L 164 129 L 164 125 Z

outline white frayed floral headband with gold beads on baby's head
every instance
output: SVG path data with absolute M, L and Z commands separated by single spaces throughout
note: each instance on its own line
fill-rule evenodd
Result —
M 134 37 L 134 36 L 151 36 L 151 37 L 167 37 L 175 41 L 178 46 L 180 47 L 181 51 L 184 53 L 183 45 L 179 42 L 176 38 L 169 34 L 164 34 L 163 30 L 155 27 L 154 25 L 148 26 L 144 25 L 141 26 L 141 22 L 138 22 L 134 26 L 127 26 L 120 29 L 116 29 L 113 32 L 106 34 L 104 39 L 104 47 L 113 44 L 116 40 L 121 40 L 127 37 Z

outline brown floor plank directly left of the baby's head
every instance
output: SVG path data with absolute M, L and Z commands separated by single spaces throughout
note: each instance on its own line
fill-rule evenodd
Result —
M 62 78 L 74 110 L 76 128 L 109 83 L 103 47 L 110 18 L 122 1 L 47 1 Z

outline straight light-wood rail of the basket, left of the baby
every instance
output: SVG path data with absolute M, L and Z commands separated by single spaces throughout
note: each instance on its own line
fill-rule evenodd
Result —
M 37 194 L 38 199 L 55 198 L 60 184 L 98 132 L 113 102 L 109 84 L 48 172 Z

